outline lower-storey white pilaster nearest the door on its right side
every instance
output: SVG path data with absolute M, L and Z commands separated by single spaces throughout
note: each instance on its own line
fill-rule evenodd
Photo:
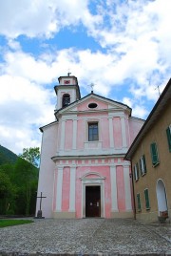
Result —
M 116 166 L 110 166 L 112 211 L 118 211 Z

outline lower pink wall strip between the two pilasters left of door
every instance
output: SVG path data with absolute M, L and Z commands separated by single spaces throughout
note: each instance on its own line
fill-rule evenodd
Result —
M 65 167 L 63 170 L 62 211 L 68 211 L 69 190 L 70 190 L 70 168 Z

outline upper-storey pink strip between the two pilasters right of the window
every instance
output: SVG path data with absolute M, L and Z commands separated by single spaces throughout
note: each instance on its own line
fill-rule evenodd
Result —
M 122 139 L 122 126 L 121 126 L 120 117 L 113 118 L 113 137 L 114 137 L 115 148 L 122 148 L 123 139 Z

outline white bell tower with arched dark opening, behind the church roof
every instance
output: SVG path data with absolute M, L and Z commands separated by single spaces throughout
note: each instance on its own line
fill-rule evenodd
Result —
M 54 87 L 57 95 L 56 110 L 66 108 L 70 103 L 81 98 L 77 77 L 68 73 L 58 78 L 59 85 Z

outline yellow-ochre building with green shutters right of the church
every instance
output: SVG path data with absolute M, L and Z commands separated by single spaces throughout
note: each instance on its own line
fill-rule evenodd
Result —
M 125 159 L 132 163 L 136 218 L 171 217 L 171 79 Z

